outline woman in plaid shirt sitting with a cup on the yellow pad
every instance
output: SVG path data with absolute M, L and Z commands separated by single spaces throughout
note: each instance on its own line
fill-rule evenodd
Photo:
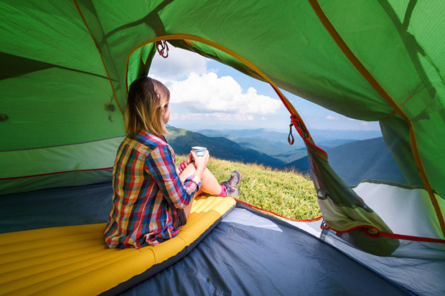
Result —
M 113 167 L 113 205 L 105 229 L 110 248 L 141 248 L 175 237 L 195 196 L 202 192 L 239 195 L 240 174 L 219 184 L 207 169 L 209 152 L 193 151 L 178 167 L 163 135 L 170 118 L 170 92 L 161 82 L 140 77 L 130 86 L 125 109 L 127 137 Z

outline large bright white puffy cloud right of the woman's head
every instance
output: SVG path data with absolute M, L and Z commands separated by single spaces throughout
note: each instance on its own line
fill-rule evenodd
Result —
M 183 103 L 196 113 L 270 114 L 281 106 L 279 100 L 259 95 L 253 87 L 243 93 L 231 76 L 219 78 L 216 73 L 191 73 L 187 79 L 174 82 L 170 93 L 172 104 Z

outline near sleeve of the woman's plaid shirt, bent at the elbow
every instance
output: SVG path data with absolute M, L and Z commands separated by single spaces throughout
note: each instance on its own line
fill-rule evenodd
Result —
M 167 202 L 176 208 L 184 208 L 201 187 L 196 175 L 188 177 L 184 184 L 179 179 L 172 150 L 167 145 L 153 149 L 145 158 L 145 169 L 159 186 Z

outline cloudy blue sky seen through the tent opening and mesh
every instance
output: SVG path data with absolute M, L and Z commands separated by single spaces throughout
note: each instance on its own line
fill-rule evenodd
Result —
M 155 55 L 149 76 L 170 90 L 170 125 L 188 130 L 289 131 L 290 114 L 268 83 L 171 44 L 169 49 L 168 58 Z M 378 122 L 348 118 L 281 91 L 309 131 L 380 130 Z

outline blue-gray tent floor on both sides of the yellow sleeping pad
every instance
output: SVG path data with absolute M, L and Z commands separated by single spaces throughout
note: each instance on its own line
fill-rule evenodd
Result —
M 109 183 L 1 195 L 0 230 L 106 222 L 110 199 Z M 185 258 L 122 293 L 320 294 L 409 295 L 309 233 L 242 206 Z

